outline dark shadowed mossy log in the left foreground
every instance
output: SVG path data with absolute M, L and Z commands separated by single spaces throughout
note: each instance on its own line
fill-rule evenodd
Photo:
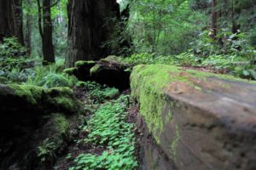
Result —
M 0 169 L 49 169 L 79 122 L 73 90 L 2 84 L 0 104 Z

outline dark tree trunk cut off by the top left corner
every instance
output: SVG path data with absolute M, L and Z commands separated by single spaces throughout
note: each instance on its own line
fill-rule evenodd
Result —
M 23 40 L 21 0 L 0 0 L 0 42 L 3 37 L 18 37 Z

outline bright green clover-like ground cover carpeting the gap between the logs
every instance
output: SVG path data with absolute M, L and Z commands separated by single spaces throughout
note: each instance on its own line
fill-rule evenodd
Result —
M 91 117 L 84 130 L 89 135 L 84 141 L 105 147 L 101 155 L 80 154 L 74 169 L 135 169 L 135 136 L 133 125 L 126 122 L 125 109 L 128 96 L 102 105 Z

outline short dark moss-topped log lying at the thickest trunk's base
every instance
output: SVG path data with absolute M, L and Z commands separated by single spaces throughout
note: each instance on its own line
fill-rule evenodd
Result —
M 95 81 L 125 90 L 130 88 L 131 67 L 123 58 L 110 55 L 98 61 L 77 61 L 75 67 L 65 69 L 64 72 L 77 77 L 79 81 Z

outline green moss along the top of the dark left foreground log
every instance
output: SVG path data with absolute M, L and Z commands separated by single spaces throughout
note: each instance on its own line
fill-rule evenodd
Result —
M 61 111 L 64 113 L 79 111 L 79 101 L 70 88 L 44 89 L 37 86 L 17 84 L 10 84 L 8 88 L 8 94 L 26 101 L 24 105 L 38 105 L 40 108 L 44 108 L 45 111 Z

